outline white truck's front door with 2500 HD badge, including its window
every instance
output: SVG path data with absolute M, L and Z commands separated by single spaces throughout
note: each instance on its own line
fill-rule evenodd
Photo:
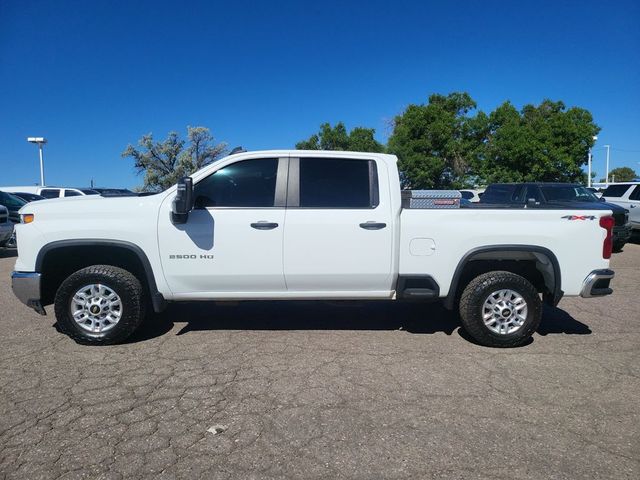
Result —
M 194 185 L 195 208 L 183 225 L 170 222 L 172 198 L 165 200 L 158 241 L 174 295 L 259 298 L 261 292 L 285 291 L 287 162 L 286 158 L 240 160 L 199 180 Z

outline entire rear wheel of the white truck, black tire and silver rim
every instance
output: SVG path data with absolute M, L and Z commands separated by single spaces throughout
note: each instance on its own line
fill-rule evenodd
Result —
M 511 272 L 489 272 L 474 278 L 460 298 L 465 331 L 481 345 L 517 347 L 526 343 L 542 319 L 535 287 Z

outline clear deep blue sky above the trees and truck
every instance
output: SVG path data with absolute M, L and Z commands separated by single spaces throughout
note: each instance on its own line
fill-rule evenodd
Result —
M 640 2 L 0 2 L 0 185 L 133 187 L 144 133 L 211 128 L 293 148 L 320 123 L 389 121 L 433 92 L 484 110 L 544 98 L 602 127 L 594 170 L 640 170 Z

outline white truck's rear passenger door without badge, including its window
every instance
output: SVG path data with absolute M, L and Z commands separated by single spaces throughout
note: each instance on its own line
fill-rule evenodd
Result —
M 389 185 L 378 181 L 378 170 L 375 160 L 289 160 L 284 272 L 290 293 L 388 296 L 394 219 Z

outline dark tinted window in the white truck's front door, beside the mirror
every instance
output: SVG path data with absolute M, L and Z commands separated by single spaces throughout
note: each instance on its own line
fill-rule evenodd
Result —
M 277 176 L 277 158 L 232 163 L 196 184 L 195 206 L 273 207 Z

